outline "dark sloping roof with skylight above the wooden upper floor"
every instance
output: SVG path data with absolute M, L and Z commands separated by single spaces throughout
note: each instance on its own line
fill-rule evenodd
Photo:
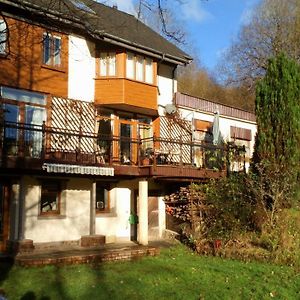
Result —
M 133 15 L 94 0 L 2 0 L 2 3 L 59 18 L 73 27 L 81 27 L 93 38 L 145 53 L 161 60 L 186 64 L 192 58 Z

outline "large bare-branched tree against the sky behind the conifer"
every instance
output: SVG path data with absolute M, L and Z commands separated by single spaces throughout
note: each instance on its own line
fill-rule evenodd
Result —
M 263 0 L 220 64 L 228 84 L 243 83 L 255 92 L 268 59 L 285 52 L 300 62 L 300 0 Z

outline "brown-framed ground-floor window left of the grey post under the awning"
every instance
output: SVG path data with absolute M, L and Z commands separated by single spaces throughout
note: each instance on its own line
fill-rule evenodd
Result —
M 60 213 L 61 187 L 57 181 L 43 182 L 41 186 L 40 214 Z

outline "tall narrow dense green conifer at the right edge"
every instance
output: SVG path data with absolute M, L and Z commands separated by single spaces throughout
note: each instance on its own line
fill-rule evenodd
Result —
M 267 196 L 264 201 L 271 208 L 275 199 L 277 207 L 288 203 L 298 180 L 299 101 L 300 65 L 279 54 L 269 60 L 266 75 L 257 84 L 255 107 L 258 132 L 253 169 Z M 276 182 L 275 188 L 272 182 Z

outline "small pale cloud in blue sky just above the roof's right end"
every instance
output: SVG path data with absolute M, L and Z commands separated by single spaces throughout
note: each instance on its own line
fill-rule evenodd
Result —
M 199 0 L 188 0 L 181 5 L 181 16 L 187 21 L 203 22 L 213 16 L 201 6 Z

